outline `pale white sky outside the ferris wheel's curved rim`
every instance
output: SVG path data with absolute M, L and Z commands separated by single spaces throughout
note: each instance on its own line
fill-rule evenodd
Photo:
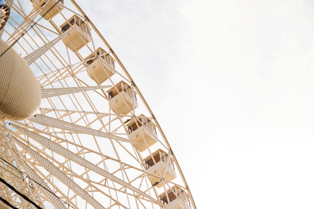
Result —
M 314 2 L 77 0 L 198 208 L 314 207 Z

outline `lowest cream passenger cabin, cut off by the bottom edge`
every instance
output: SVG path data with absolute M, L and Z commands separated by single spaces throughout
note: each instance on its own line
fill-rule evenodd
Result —
M 191 209 L 190 197 L 177 186 L 167 190 L 159 196 L 161 202 L 165 204 L 163 209 Z

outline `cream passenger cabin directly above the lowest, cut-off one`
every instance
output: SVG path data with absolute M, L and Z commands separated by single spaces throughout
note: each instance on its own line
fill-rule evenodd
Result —
M 151 157 L 152 156 L 152 157 Z M 170 159 L 169 159 L 170 158 Z M 172 180 L 176 175 L 173 159 L 162 149 L 158 149 L 144 159 L 146 172 L 150 173 L 148 179 L 151 185 L 162 187 L 161 179 Z M 167 164 L 168 162 L 168 164 Z

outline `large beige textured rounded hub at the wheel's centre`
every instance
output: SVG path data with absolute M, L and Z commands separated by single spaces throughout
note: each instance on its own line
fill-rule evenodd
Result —
M 39 109 L 39 83 L 26 61 L 0 39 L 0 114 L 25 120 Z

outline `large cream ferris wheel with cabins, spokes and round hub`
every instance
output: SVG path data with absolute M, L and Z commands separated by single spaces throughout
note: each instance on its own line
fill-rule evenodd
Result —
M 82 7 L 0 9 L 0 208 L 196 209 L 158 120 Z

